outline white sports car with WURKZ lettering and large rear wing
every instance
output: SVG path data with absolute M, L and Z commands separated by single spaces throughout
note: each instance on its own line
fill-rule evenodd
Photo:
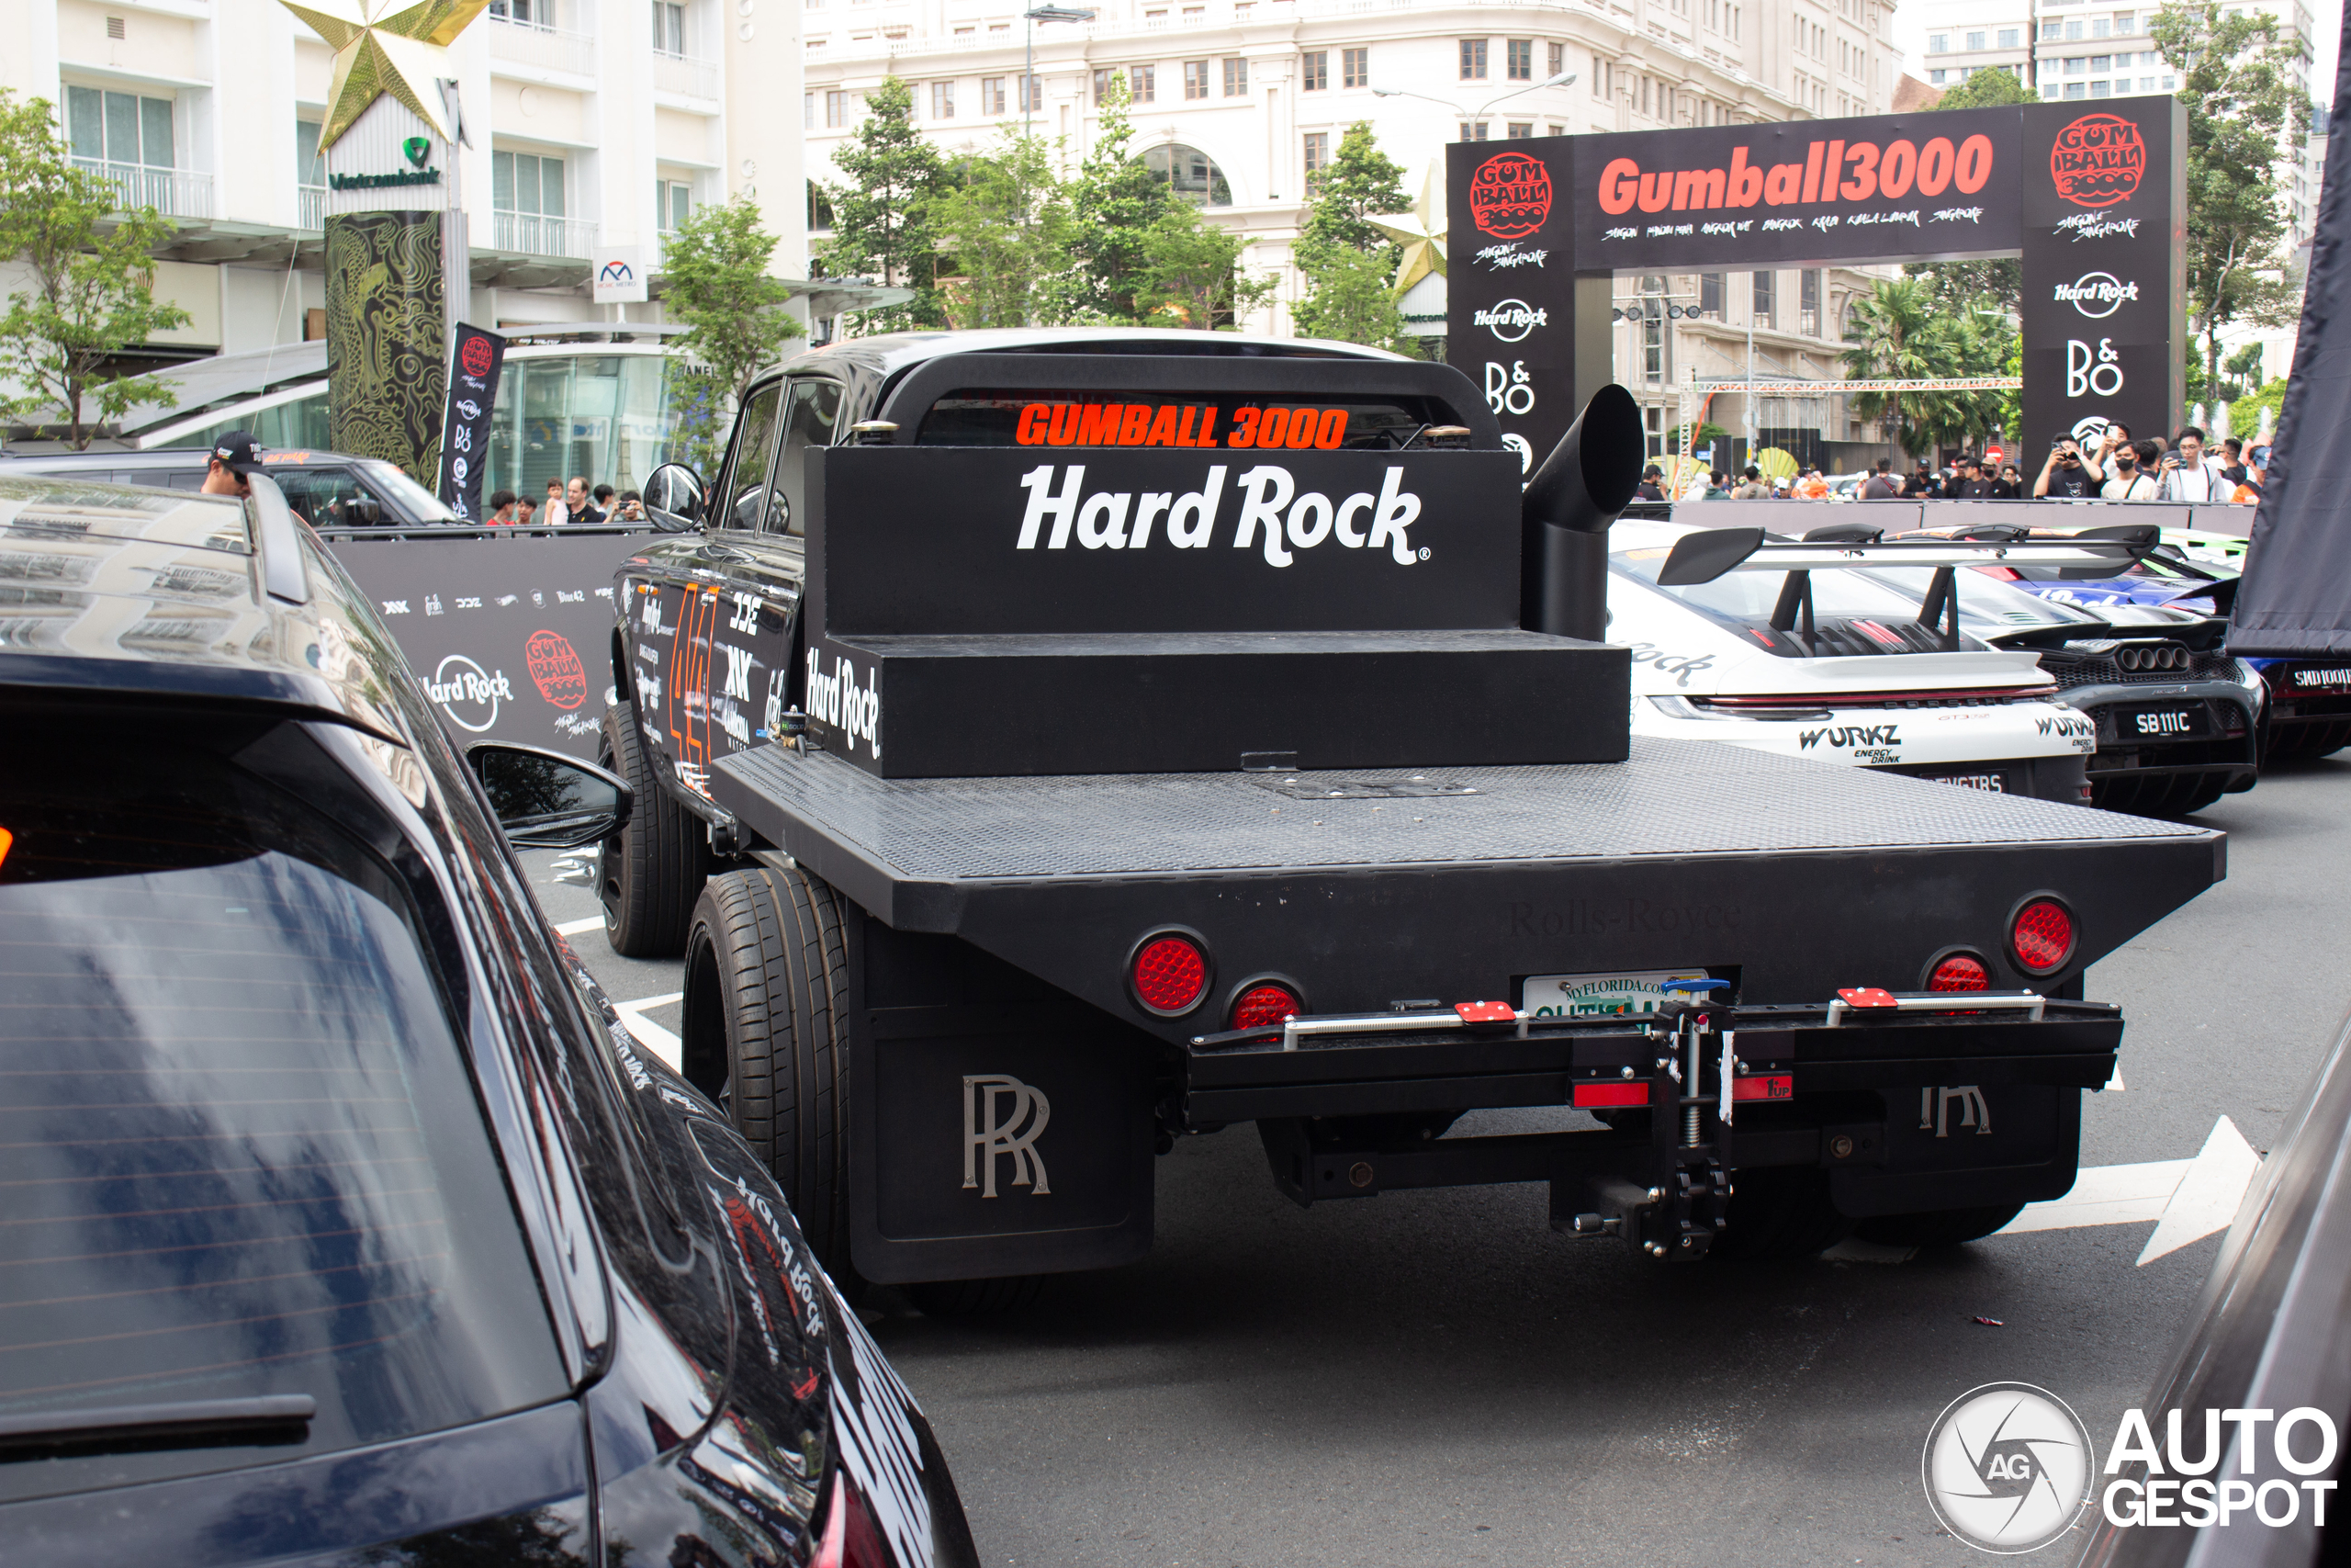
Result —
M 1857 564 L 1808 569 L 1777 569 L 1761 550 L 1712 581 L 1660 588 L 1674 545 L 1695 534 L 1632 520 L 1610 531 L 1608 639 L 1632 646 L 1634 733 L 2088 799 L 2097 726 L 2057 701 L 2034 651 L 1961 632 L 1951 597 L 1982 630 L 2078 616 L 1975 571 L 1954 583 L 1935 562 L 1878 564 L 1886 548 L 1813 545 L 1817 559 Z

